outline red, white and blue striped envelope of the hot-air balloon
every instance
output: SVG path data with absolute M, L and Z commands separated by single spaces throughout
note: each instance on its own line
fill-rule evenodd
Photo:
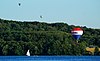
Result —
M 79 40 L 80 36 L 83 34 L 83 30 L 81 28 L 73 28 L 71 33 L 76 40 Z

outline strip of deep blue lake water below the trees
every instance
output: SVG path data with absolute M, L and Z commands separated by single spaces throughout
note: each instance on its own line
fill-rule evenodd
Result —
M 100 61 L 100 56 L 0 56 L 0 61 Z

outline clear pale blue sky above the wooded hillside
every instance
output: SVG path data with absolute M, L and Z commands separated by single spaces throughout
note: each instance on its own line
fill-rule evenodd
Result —
M 0 0 L 0 18 L 100 29 L 100 0 Z

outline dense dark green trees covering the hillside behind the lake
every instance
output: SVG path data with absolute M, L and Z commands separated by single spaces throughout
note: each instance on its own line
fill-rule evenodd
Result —
M 74 27 L 84 31 L 79 44 L 71 35 Z M 90 45 L 100 47 L 100 29 L 0 19 L 0 55 L 25 55 L 28 49 L 31 55 L 92 55 L 85 49 Z

